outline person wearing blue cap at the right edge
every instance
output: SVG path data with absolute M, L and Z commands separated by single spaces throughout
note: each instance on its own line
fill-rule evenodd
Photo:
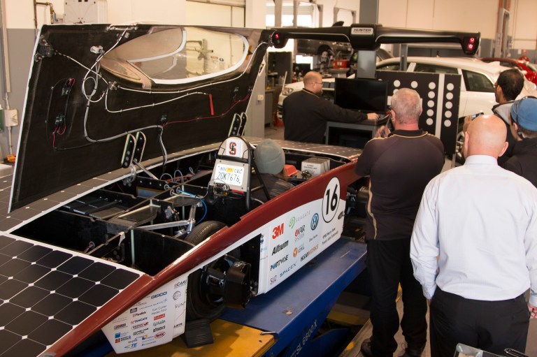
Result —
M 503 168 L 513 171 L 537 187 L 537 98 L 515 101 L 510 110 L 510 130 L 517 140 Z

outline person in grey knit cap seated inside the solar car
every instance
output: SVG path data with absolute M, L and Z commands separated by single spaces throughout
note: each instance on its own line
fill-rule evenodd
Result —
M 292 189 L 294 185 L 291 182 L 287 182 L 284 166 L 285 166 L 285 154 L 274 140 L 263 140 L 254 150 L 254 160 L 257 172 L 252 175 L 252 182 L 250 187 L 254 189 L 252 191 L 252 197 L 257 198 L 259 201 L 267 201 L 264 190 L 260 187 L 262 184 L 268 191 L 268 196 L 274 198 L 288 189 Z M 260 182 L 261 177 L 263 182 Z

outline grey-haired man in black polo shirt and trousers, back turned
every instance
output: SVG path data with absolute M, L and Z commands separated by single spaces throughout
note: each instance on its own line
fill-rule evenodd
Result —
M 444 148 L 440 139 L 418 128 L 421 113 L 417 92 L 399 89 L 392 96 L 395 130 L 387 138 L 370 140 L 356 165 L 357 175 L 369 176 L 366 240 L 373 335 L 361 344 L 367 357 L 392 357 L 397 349 L 399 283 L 405 356 L 421 356 L 427 342 L 427 301 L 413 276 L 410 236 L 423 191 L 441 173 Z

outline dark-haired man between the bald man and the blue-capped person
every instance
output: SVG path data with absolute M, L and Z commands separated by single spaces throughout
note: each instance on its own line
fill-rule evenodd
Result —
M 510 68 L 500 73 L 498 80 L 494 83 L 494 98 L 496 99 L 496 105 L 492 107 L 492 112 L 497 117 L 503 119 L 506 124 L 507 130 L 507 142 L 509 147 L 505 154 L 498 158 L 498 163 L 501 165 L 506 162 L 512 154 L 513 145 L 515 144 L 515 138 L 509 130 L 509 110 L 513 101 L 517 99 L 517 96 L 522 92 L 524 87 L 524 75 L 517 68 Z

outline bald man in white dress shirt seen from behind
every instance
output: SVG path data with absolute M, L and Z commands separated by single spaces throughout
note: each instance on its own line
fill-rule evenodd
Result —
M 499 117 L 477 117 L 464 166 L 436 176 L 422 197 L 410 258 L 431 299 L 432 357 L 454 356 L 459 342 L 502 355 L 526 348 L 537 313 L 537 189 L 498 166 L 506 133 Z

